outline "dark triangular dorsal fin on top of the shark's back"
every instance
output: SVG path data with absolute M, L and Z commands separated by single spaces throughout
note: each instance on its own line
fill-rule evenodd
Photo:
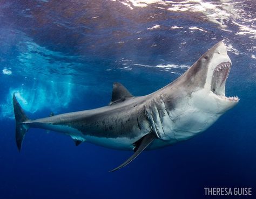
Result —
M 109 105 L 116 102 L 123 102 L 127 98 L 133 97 L 132 94 L 120 83 L 114 82 L 112 90 L 112 99 Z

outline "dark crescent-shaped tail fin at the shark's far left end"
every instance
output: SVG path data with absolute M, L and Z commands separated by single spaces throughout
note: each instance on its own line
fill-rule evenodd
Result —
M 15 115 L 15 122 L 16 122 L 16 144 L 18 147 L 18 150 L 21 151 L 22 147 L 22 141 L 23 138 L 28 131 L 28 127 L 26 127 L 23 122 L 26 120 L 29 120 L 28 117 L 26 117 L 23 109 L 21 108 L 21 105 L 19 105 L 15 94 L 12 97 L 12 101 L 14 103 L 14 115 Z

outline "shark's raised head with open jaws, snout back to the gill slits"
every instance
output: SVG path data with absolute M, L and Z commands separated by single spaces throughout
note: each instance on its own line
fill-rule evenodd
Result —
M 186 140 L 205 131 L 238 103 L 238 97 L 225 96 L 230 69 L 231 60 L 221 41 L 208 49 L 177 80 L 160 90 L 172 118 L 166 140 L 173 134 L 176 140 Z

